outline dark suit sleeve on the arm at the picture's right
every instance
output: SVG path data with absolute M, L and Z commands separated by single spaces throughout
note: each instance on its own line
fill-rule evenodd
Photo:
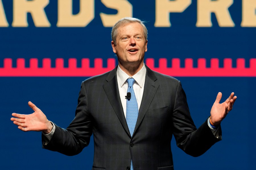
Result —
M 202 155 L 214 143 L 221 140 L 213 135 L 207 120 L 198 129 L 195 127 L 189 113 L 187 98 L 180 82 L 177 85 L 172 121 L 173 134 L 177 146 L 191 156 Z

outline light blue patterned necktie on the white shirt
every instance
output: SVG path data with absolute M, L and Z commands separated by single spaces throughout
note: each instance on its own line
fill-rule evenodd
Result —
M 127 93 L 131 93 L 131 98 L 126 100 L 126 122 L 131 134 L 133 136 L 134 128 L 137 122 L 139 109 L 138 103 L 135 97 L 135 93 L 133 91 L 133 84 L 135 80 L 133 78 L 127 79 L 128 82 L 128 90 Z M 131 170 L 133 170 L 133 160 L 131 160 Z

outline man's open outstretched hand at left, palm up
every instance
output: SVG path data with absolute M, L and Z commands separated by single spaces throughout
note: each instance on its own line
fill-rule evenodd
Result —
M 28 102 L 29 107 L 33 109 L 32 114 L 17 114 L 13 113 L 11 121 L 22 131 L 43 131 L 48 134 L 51 132 L 52 124 L 46 118 L 45 114 L 36 107 L 31 101 Z

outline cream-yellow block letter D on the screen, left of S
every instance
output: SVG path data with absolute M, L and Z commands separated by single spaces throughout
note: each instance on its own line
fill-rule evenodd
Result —
M 80 0 L 80 11 L 72 14 L 73 0 L 58 0 L 57 27 L 86 27 L 94 18 L 94 0 Z

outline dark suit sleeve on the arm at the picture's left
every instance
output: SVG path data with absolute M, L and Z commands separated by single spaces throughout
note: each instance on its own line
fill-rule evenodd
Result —
M 88 112 L 88 98 L 84 82 L 82 82 L 74 120 L 67 129 L 60 128 L 55 124 L 55 132 L 51 140 L 47 145 L 42 146 L 65 155 L 76 155 L 88 146 L 91 135 L 92 118 Z M 42 135 L 42 141 L 44 138 L 45 136 Z

